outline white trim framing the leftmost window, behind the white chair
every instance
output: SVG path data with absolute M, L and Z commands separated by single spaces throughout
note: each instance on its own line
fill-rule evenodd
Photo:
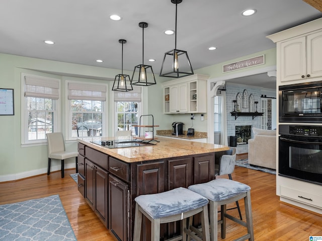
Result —
M 28 111 L 27 111 L 27 101 L 25 98 L 25 76 L 41 77 L 48 80 L 55 80 L 59 82 L 59 98 L 54 100 L 55 111 L 54 111 L 54 132 L 60 132 L 61 121 L 60 121 L 60 91 L 61 91 L 61 80 L 57 78 L 50 78 L 34 74 L 21 73 L 21 147 L 31 147 L 31 146 L 41 146 L 47 145 L 47 140 L 28 140 Z

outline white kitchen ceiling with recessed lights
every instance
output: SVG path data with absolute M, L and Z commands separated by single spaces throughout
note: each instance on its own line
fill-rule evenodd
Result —
M 257 12 L 244 17 L 246 9 Z M 111 14 L 122 20 L 110 20 Z M 321 12 L 302 0 L 183 0 L 178 5 L 177 49 L 186 50 L 193 69 L 200 69 L 274 48 L 266 36 L 320 17 Z M 118 40 L 125 39 L 123 68 L 133 71 L 142 64 L 139 22 L 149 25 L 144 29 L 144 64 L 158 75 L 164 53 L 175 48 L 175 36 L 164 34 L 175 30 L 170 0 L 5 0 L 0 53 L 121 69 Z M 217 49 L 209 51 L 211 46 Z M 148 62 L 150 58 L 156 61 Z

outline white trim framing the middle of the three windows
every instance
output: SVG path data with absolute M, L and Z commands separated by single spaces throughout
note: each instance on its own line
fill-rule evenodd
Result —
M 69 104 L 69 99 L 68 99 L 68 83 L 82 83 L 82 84 L 85 84 L 85 82 L 83 81 L 73 81 L 73 80 L 66 80 L 65 81 L 65 138 L 66 138 L 66 143 L 70 143 L 70 142 L 75 142 L 78 137 L 76 138 L 71 138 L 71 125 L 69 125 L 69 120 L 71 120 L 71 113 L 70 113 L 70 104 Z M 102 84 L 102 83 L 89 83 L 89 82 L 86 82 L 86 84 L 91 84 L 91 85 L 106 85 L 106 89 L 108 90 L 108 84 Z M 107 127 L 108 127 L 108 116 L 107 116 L 107 113 L 108 113 L 108 103 L 107 101 L 109 100 L 108 98 L 108 91 L 106 91 L 106 101 L 102 101 L 102 112 L 103 112 L 103 115 L 102 115 L 102 129 L 103 129 L 103 132 L 102 132 L 102 137 L 106 137 L 107 134 L 108 134 L 108 130 L 107 130 Z

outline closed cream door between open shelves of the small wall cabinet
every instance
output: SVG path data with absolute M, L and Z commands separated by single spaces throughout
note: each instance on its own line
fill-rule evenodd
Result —
M 188 112 L 188 84 L 182 83 L 170 86 L 170 112 Z

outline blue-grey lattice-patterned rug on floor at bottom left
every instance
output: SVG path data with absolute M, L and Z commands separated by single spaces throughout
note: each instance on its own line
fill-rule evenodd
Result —
M 0 205 L 0 240 L 77 240 L 59 195 Z

